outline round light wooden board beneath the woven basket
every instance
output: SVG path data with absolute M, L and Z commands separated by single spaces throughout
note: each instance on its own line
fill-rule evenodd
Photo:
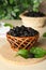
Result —
M 15 65 L 32 65 L 40 62 L 46 59 L 46 56 L 43 58 L 29 58 L 25 59 L 20 56 L 16 57 L 16 52 L 11 48 L 10 43 L 3 39 L 4 44 L 0 47 L 0 58 L 6 60 L 7 62 L 14 62 Z M 37 44 L 43 48 L 46 48 L 46 39 L 41 39 L 40 43 Z

